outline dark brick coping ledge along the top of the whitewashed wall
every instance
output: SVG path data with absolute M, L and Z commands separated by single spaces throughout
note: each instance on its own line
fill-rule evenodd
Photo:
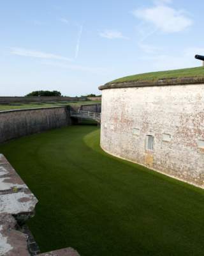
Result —
M 203 84 L 204 77 L 179 77 L 159 80 L 138 80 L 123 83 L 107 83 L 99 86 L 99 90 L 129 87 L 147 87 L 147 86 L 173 86 L 182 84 Z

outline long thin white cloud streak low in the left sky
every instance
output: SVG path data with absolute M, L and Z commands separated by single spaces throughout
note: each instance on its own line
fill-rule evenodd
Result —
M 24 56 L 24 57 L 71 61 L 70 58 L 66 58 L 61 55 L 56 55 L 48 52 L 35 51 L 31 49 L 18 48 L 18 47 L 11 47 L 10 53 L 13 55 Z

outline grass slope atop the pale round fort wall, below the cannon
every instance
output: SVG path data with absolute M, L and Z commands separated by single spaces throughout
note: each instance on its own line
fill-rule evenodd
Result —
M 132 82 L 132 81 L 139 81 L 139 80 L 156 81 L 159 79 L 168 79 L 168 78 L 203 77 L 203 76 L 204 76 L 204 67 L 196 67 L 196 68 L 184 68 L 184 69 L 177 69 L 177 70 L 136 74 L 133 76 L 126 76 L 119 79 L 115 79 L 110 83 Z

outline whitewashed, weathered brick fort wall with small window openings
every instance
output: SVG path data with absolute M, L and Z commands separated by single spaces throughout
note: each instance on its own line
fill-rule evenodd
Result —
M 106 152 L 204 188 L 204 148 L 198 146 L 204 140 L 204 84 L 104 89 Z M 154 150 L 145 147 L 147 135 L 154 136 Z

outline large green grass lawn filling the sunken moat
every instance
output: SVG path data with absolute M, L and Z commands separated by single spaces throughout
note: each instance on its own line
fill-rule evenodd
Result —
M 34 134 L 0 152 L 39 200 L 28 225 L 42 252 L 203 255 L 204 191 L 106 154 L 96 126 Z

